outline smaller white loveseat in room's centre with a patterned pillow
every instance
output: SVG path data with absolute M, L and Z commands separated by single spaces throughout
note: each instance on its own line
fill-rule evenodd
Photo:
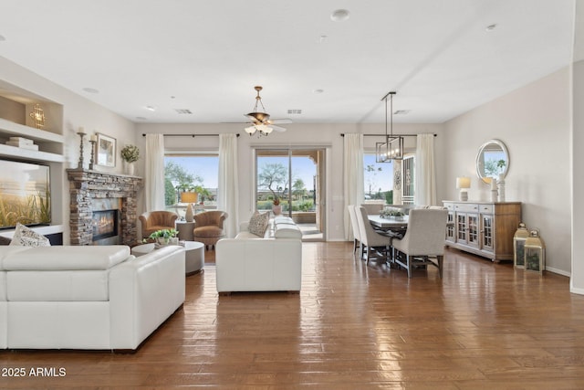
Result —
M 270 221 L 264 237 L 240 225 L 235 238 L 223 238 L 215 249 L 219 293 L 233 291 L 300 290 L 302 282 L 302 232 L 286 216 Z

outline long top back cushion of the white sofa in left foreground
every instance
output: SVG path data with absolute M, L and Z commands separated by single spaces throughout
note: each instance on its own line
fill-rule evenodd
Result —
M 130 247 L 125 245 L 38 247 L 6 253 L 3 267 L 6 270 L 99 270 L 110 269 L 129 257 Z

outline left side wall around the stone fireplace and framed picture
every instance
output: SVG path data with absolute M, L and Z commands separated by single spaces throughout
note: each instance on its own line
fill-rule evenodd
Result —
M 86 132 L 103 132 L 116 138 L 118 142 L 116 167 L 96 167 L 96 170 L 120 174 L 123 172 L 119 154 L 120 148 L 126 143 L 135 143 L 138 138 L 133 122 L 2 57 L 0 57 L 0 79 L 22 90 L 63 105 L 62 133 L 66 137 L 64 147 L 66 163 L 62 164 L 63 170 L 76 168 L 78 165 L 79 137 L 76 132 L 80 126 L 83 126 Z M 89 163 L 89 146 L 87 145 L 85 152 L 85 166 L 87 167 Z M 54 175 L 61 182 L 61 191 L 53 194 L 53 196 L 56 199 L 61 199 L 61 207 L 57 209 L 62 210 L 63 216 L 62 219 L 59 218 L 58 220 L 63 222 L 63 241 L 67 245 L 69 243 L 69 184 L 67 174 L 51 172 L 51 175 Z

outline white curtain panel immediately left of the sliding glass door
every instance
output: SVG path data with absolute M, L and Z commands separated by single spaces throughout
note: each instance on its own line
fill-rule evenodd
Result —
M 239 227 L 237 134 L 219 134 L 219 183 L 217 185 L 217 208 L 228 214 L 224 221 L 225 235 L 233 238 Z

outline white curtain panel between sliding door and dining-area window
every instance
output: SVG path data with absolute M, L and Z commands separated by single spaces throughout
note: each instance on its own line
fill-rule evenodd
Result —
M 345 239 L 353 240 L 349 205 L 360 205 L 365 199 L 363 186 L 363 134 L 345 134 L 343 139 L 343 220 Z

